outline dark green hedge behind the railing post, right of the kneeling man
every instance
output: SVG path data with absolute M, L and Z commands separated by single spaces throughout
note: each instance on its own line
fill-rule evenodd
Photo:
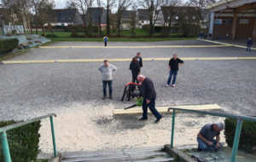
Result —
M 225 119 L 224 136 L 230 148 L 233 147 L 236 134 L 236 119 Z M 243 121 L 241 125 L 241 136 L 238 148 L 247 153 L 255 153 L 256 150 L 256 123 Z

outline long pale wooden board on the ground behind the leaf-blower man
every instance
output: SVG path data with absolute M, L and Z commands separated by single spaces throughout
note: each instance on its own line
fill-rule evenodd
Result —
M 183 108 L 183 109 L 189 109 L 189 110 L 219 110 L 221 107 L 219 107 L 217 104 L 208 104 L 208 105 L 189 105 L 189 106 L 171 106 L 175 108 Z M 159 113 L 167 113 L 169 107 L 155 107 Z M 142 107 L 136 107 L 131 109 L 113 109 L 113 114 L 131 114 L 131 113 L 143 113 Z M 148 109 L 148 113 L 151 113 Z M 170 113 L 172 113 L 172 110 L 170 110 Z

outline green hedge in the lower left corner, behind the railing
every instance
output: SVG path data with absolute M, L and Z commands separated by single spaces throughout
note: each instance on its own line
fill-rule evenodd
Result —
M 0 127 L 15 123 L 19 122 L 14 120 L 2 121 Z M 40 123 L 41 121 L 37 121 L 7 131 L 9 151 L 13 162 L 35 162 L 37 160 Z M 4 162 L 2 143 L 0 143 L 0 162 Z

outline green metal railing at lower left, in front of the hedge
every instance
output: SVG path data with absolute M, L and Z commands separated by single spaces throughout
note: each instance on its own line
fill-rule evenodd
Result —
M 53 141 L 53 146 L 54 146 L 54 153 L 55 153 L 55 157 L 57 157 L 57 149 L 56 149 L 56 143 L 55 143 L 55 128 L 54 128 L 54 123 L 53 123 L 53 116 L 56 117 L 56 114 L 51 113 L 49 115 L 45 115 L 45 116 L 38 117 L 38 118 L 35 118 L 35 119 L 30 119 L 30 120 L 26 120 L 24 122 L 20 122 L 20 123 L 17 123 L 17 124 L 10 124 L 10 125 L 1 127 L 0 128 L 0 137 L 1 137 L 2 147 L 3 147 L 3 155 L 4 155 L 5 162 L 11 162 L 12 161 L 11 157 L 10 157 L 10 153 L 9 153 L 9 144 L 8 144 L 6 131 L 18 128 L 18 127 L 26 125 L 26 124 L 31 124 L 33 122 L 36 122 L 36 121 L 41 120 L 41 119 L 46 119 L 46 118 L 50 119 L 52 141 Z

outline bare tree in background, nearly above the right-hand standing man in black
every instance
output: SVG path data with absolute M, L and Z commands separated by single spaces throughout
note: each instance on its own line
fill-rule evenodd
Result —
M 164 17 L 163 35 L 169 35 L 172 25 L 172 16 L 177 13 L 177 6 L 181 4 L 181 0 L 163 0 L 162 13 Z M 166 29 L 167 24 L 167 29 Z

